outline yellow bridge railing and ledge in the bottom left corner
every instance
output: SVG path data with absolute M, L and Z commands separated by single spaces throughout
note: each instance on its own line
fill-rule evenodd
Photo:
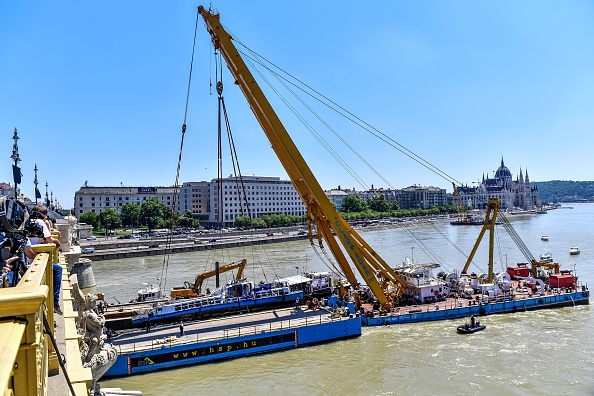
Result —
M 58 373 L 58 356 L 44 332 L 43 318 L 54 334 L 52 263 L 60 262 L 54 244 L 34 245 L 33 263 L 15 287 L 0 289 L 0 394 L 47 395 L 48 375 Z M 63 279 L 68 279 L 66 271 Z M 68 282 L 63 282 L 64 310 L 72 312 Z M 70 323 L 71 322 L 71 323 Z M 60 351 L 68 361 L 68 373 L 77 395 L 88 394 L 92 385 L 90 369 L 82 367 L 78 335 L 72 317 L 65 318 L 66 343 Z M 70 330 L 69 330 L 70 329 Z M 76 334 L 73 336 L 73 333 Z

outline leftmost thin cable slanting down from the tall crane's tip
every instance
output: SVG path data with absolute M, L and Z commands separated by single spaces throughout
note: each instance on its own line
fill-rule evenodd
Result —
M 177 207 L 177 204 L 179 202 L 179 171 L 181 168 L 181 160 L 182 160 L 182 153 L 183 153 L 183 149 L 184 149 L 184 137 L 186 135 L 186 121 L 188 119 L 188 107 L 189 107 L 189 103 L 190 103 L 190 88 L 192 86 L 192 70 L 194 68 L 194 51 L 196 49 L 196 34 L 198 32 L 198 20 L 200 18 L 200 12 L 198 12 L 196 14 L 196 23 L 194 25 L 194 40 L 192 43 L 192 57 L 190 60 L 190 72 L 188 75 L 188 87 L 186 90 L 186 105 L 185 105 L 185 109 L 184 109 L 184 122 L 182 124 L 182 131 L 181 131 L 181 141 L 180 141 L 180 146 L 179 146 L 179 156 L 177 159 L 177 170 L 175 173 L 175 183 L 173 185 L 173 206 L 172 206 L 172 210 L 170 212 L 170 217 L 169 217 L 169 221 L 168 221 L 168 227 L 169 227 L 169 231 L 167 233 L 167 241 L 166 241 L 166 253 L 163 256 L 163 265 L 161 267 L 161 279 L 159 280 L 159 287 L 162 289 L 164 289 L 167 285 L 167 270 L 169 269 L 169 250 L 171 248 L 171 238 L 173 236 L 173 219 L 175 216 L 175 210 Z

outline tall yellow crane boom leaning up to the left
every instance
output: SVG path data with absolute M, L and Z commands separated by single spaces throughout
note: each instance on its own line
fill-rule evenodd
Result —
M 358 286 L 359 282 L 337 243 L 337 240 L 340 241 L 351 262 L 355 265 L 363 281 L 371 289 L 379 303 L 383 307 L 390 307 L 392 301 L 389 301 L 388 295 L 397 297 L 402 294 L 406 288 L 406 282 L 334 209 L 233 44 L 233 37 L 221 25 L 220 15 L 216 12 L 211 13 L 211 10 L 206 10 L 203 6 L 198 7 L 198 12 L 204 19 L 214 48 L 220 51 L 221 56 L 225 59 L 235 83 L 239 85 L 245 95 L 274 152 L 305 203 L 310 229 L 311 223 L 317 226 L 319 245 L 322 246 L 321 238 L 327 241 L 347 280 L 353 286 Z M 333 235 L 332 231 L 336 236 Z M 311 232 L 309 236 L 311 243 L 314 244 Z M 390 292 L 385 291 L 385 289 L 389 288 L 392 289 Z

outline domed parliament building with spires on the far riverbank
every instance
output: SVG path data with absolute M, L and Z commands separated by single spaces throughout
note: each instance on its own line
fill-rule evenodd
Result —
M 489 178 L 489 175 L 485 178 L 483 174 L 483 180 L 478 187 L 458 187 L 458 193 L 464 205 L 479 209 L 484 208 L 491 197 L 498 198 L 501 203 L 500 209 L 508 212 L 530 211 L 542 207 L 538 188 L 530 185 L 528 170 L 524 176 L 520 168 L 520 175 L 513 180 L 510 170 L 503 163 L 503 157 L 501 166 L 495 171 L 493 178 Z

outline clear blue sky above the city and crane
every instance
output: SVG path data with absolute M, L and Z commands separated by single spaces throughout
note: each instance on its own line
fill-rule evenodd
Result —
M 48 181 L 67 208 L 85 181 L 172 185 L 200 4 L 1 1 L 0 181 L 12 182 L 16 127 L 29 197 L 35 163 L 42 185 Z M 245 45 L 457 180 L 470 184 L 491 174 L 502 155 L 514 178 L 527 168 L 531 181 L 594 180 L 591 1 L 213 6 Z M 200 21 L 180 181 L 216 177 L 211 54 Z M 285 178 L 226 68 L 223 81 L 242 172 Z M 301 123 L 283 121 L 323 188 L 361 189 Z M 337 128 L 392 186 L 451 191 L 450 183 L 374 138 Z M 368 185 L 386 187 L 319 132 Z

